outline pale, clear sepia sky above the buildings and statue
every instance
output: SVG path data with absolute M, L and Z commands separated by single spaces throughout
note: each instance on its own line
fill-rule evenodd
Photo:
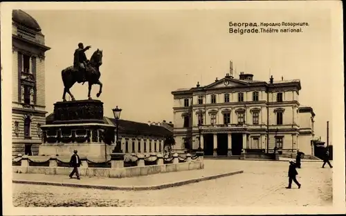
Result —
M 229 61 L 253 79 L 300 79 L 300 104 L 316 113 L 315 132 L 326 139 L 331 121 L 329 10 L 26 10 L 46 38 L 46 110 L 62 101 L 61 71 L 73 64 L 78 43 L 103 50 L 100 81 L 104 115 L 122 108 L 131 121 L 173 121 L 178 88 L 204 86 L 229 72 Z M 229 22 L 307 22 L 301 33 L 235 35 Z M 88 85 L 71 88 L 87 99 Z M 93 86 L 96 99 L 99 86 Z M 329 124 L 331 126 L 331 124 Z M 331 128 L 329 130 L 331 132 Z

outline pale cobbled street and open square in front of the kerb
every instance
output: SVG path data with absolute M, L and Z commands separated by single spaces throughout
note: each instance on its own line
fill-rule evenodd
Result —
M 332 204 L 332 169 L 302 163 L 288 184 L 288 162 L 206 159 L 205 170 L 237 168 L 244 173 L 174 188 L 146 191 L 98 190 L 13 184 L 14 206 L 327 206 Z M 179 173 L 176 173 L 179 175 Z M 160 177 L 160 174 L 157 175 Z M 163 182 L 169 179 L 161 179 Z

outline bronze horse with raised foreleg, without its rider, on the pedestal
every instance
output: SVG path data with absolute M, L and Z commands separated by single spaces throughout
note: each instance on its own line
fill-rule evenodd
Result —
M 96 94 L 97 97 L 100 97 L 102 92 L 102 83 L 100 82 L 100 66 L 102 65 L 102 50 L 96 50 L 93 52 L 93 55 L 90 58 L 89 63 L 87 63 L 85 68 L 85 78 L 89 84 L 89 92 L 88 99 L 92 99 L 90 97 L 91 86 L 93 84 L 100 85 L 100 90 Z M 66 92 L 71 96 L 71 100 L 75 100 L 75 97 L 70 92 L 70 88 L 78 81 L 78 71 L 75 70 L 73 66 L 69 66 L 62 70 L 62 82 L 64 83 L 64 94 L 62 95 L 62 100 L 66 101 Z M 84 84 L 84 83 L 83 83 Z

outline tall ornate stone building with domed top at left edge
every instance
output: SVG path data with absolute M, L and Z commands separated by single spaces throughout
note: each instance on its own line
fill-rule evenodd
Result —
M 12 11 L 12 156 L 35 155 L 46 121 L 44 53 L 50 50 L 37 21 Z

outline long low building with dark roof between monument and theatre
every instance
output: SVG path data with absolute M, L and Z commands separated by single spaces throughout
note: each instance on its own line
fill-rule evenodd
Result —
M 53 120 L 52 113 L 46 117 L 46 124 L 52 124 Z M 104 117 L 103 121 L 116 126 L 116 119 Z M 119 119 L 118 126 L 118 140 L 123 153 L 163 153 L 165 137 L 173 135 L 172 124 L 165 121 L 153 124 Z

